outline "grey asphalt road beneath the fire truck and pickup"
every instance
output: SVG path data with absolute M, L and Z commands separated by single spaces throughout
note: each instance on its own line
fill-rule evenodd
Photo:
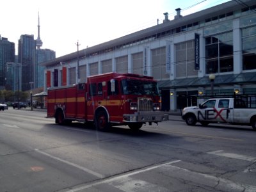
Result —
M 132 132 L 56 125 L 45 111 L 0 111 L 0 191 L 256 191 L 256 132 L 188 126 Z

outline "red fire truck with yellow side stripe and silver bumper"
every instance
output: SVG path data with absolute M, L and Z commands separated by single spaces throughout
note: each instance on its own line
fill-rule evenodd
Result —
M 87 83 L 49 88 L 47 116 L 57 124 L 93 122 L 100 131 L 111 125 L 140 129 L 168 120 L 153 77 L 111 72 L 87 78 Z

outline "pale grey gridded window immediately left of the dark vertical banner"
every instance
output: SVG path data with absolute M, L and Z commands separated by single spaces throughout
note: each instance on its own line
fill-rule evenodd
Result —
M 195 67 L 195 41 L 175 44 L 175 70 L 176 77 L 196 76 Z

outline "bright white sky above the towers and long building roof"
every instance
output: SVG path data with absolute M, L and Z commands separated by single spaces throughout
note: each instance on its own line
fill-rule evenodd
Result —
M 229 0 L 8 0 L 0 4 L 0 35 L 17 45 L 20 35 L 37 38 L 56 58 L 163 23 L 181 8 L 185 16 Z M 190 8 L 189 8 L 190 7 Z

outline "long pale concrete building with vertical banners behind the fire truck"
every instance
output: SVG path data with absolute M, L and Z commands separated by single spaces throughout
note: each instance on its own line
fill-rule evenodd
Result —
M 161 24 L 43 63 L 45 90 L 111 71 L 153 76 L 164 111 L 196 105 L 198 95 L 255 92 L 256 1 L 176 11 L 173 20 L 164 13 Z

